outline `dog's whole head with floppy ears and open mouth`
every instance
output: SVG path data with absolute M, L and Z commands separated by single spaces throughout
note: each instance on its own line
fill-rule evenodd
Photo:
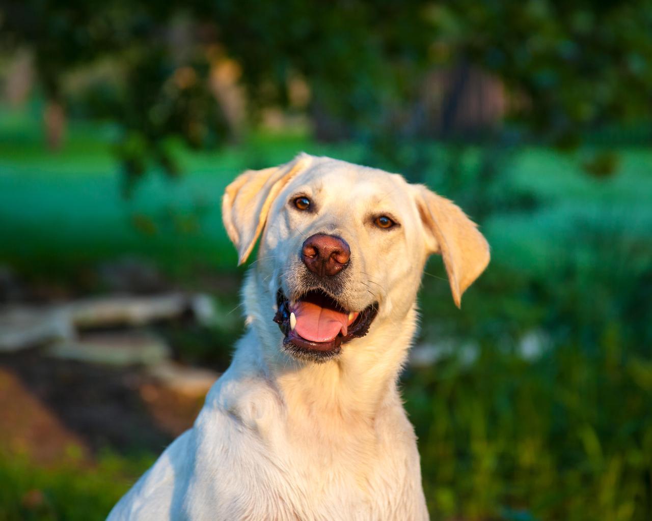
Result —
M 284 349 L 312 361 L 334 358 L 375 322 L 400 324 L 431 253 L 442 255 L 458 306 L 489 262 L 486 240 L 451 201 L 400 175 L 307 154 L 244 172 L 226 188 L 222 216 L 240 263 L 262 234 L 261 309 Z

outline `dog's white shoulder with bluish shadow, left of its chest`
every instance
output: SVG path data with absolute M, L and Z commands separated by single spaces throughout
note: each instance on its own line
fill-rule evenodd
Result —
M 203 506 L 224 507 L 222 498 L 237 493 L 233 486 L 254 481 L 247 469 L 256 468 L 264 455 L 280 406 L 255 360 L 246 359 L 246 350 L 237 357 L 211 387 L 192 429 L 164 451 L 115 505 L 108 521 L 174 519 L 181 513 L 201 518 L 192 514 Z M 215 479 L 217 470 L 229 476 Z M 206 498 L 210 505 L 204 505 Z

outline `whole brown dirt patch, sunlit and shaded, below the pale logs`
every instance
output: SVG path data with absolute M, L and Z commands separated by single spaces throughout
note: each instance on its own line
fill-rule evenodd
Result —
M 0 357 L 0 447 L 39 462 L 70 447 L 93 455 L 160 453 L 192 426 L 203 398 L 178 395 L 138 367 L 116 368 L 48 358 L 37 350 Z M 68 452 L 67 452 L 68 451 Z

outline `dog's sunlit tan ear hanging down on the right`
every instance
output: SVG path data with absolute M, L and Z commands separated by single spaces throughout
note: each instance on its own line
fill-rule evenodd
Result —
M 440 253 L 457 307 L 462 293 L 489 264 L 489 244 L 459 206 L 425 186 L 415 185 L 429 253 Z

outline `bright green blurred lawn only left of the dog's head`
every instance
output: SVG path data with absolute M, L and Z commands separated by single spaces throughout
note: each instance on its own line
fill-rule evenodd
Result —
M 259 135 L 195 154 L 177 147 L 185 175 L 150 171 L 125 199 L 110 126 L 72 124 L 65 146 L 48 152 L 28 116 L 0 119 L 0 262 L 29 275 L 74 277 L 120 255 L 149 257 L 177 275 L 198 264 L 233 270 L 237 257 L 220 217 L 226 185 L 244 169 L 287 162 L 301 150 L 329 153 L 301 136 Z M 355 156 L 354 147 L 338 152 Z

